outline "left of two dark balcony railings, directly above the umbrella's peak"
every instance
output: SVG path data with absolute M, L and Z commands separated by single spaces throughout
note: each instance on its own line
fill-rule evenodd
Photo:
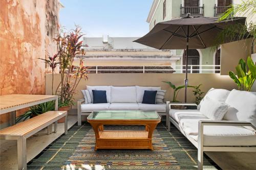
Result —
M 190 16 L 204 16 L 204 4 L 202 7 L 182 7 L 180 5 L 180 16 L 185 17 L 187 13 L 190 13 Z

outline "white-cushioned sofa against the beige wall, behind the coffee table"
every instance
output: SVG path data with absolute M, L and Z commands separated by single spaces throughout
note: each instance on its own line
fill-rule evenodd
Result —
M 142 104 L 144 90 L 161 90 L 161 87 L 114 87 L 114 86 L 87 86 L 88 90 L 105 90 L 108 103 L 85 104 L 84 99 L 77 102 L 78 126 L 81 126 L 81 116 L 89 115 L 95 110 L 143 110 L 157 111 L 160 116 L 166 113 L 166 103 Z M 166 123 L 167 124 L 167 123 Z

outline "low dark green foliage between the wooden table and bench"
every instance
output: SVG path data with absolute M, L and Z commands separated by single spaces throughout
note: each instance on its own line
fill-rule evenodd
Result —
M 55 109 L 55 102 L 54 101 L 50 101 L 50 102 L 46 102 L 46 103 L 41 103 L 35 106 L 31 106 L 29 107 L 29 110 L 26 111 L 24 114 L 19 115 L 16 118 L 16 123 L 20 122 L 20 121 L 24 121 L 27 118 L 32 118 L 33 116 L 37 116 L 39 114 L 51 111 Z

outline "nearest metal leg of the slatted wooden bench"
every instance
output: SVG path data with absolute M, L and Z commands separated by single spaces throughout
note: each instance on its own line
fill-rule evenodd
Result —
M 27 146 L 26 138 L 19 137 L 17 140 L 17 151 L 18 151 L 18 170 L 27 169 Z

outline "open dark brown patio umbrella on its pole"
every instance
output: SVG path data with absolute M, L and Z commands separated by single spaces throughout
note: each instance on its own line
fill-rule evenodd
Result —
M 184 17 L 159 22 L 145 36 L 135 40 L 159 50 L 186 49 L 185 102 L 187 102 L 188 49 L 207 48 L 215 45 L 215 38 L 228 25 L 245 25 L 246 17 L 219 21 L 218 17 Z M 226 37 L 223 43 L 234 41 Z

